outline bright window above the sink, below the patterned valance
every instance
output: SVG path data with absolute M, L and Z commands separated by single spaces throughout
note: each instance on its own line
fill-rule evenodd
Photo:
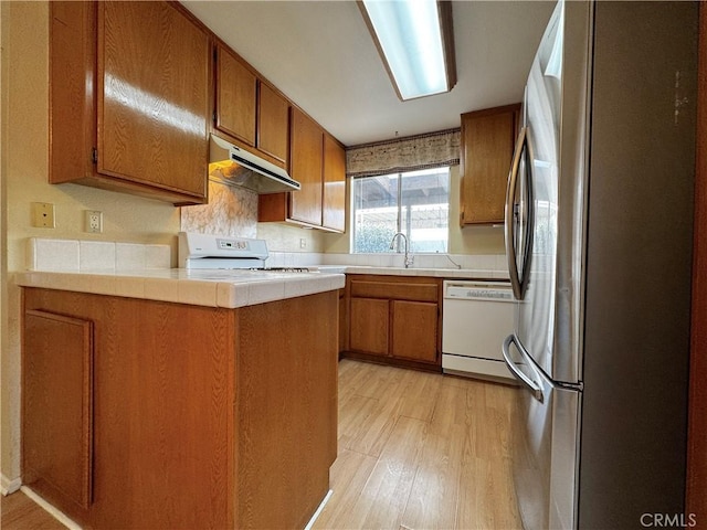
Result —
M 450 225 L 450 168 L 354 179 L 355 253 L 391 252 L 402 232 L 410 252 L 446 252 Z M 403 243 L 397 240 L 395 250 Z

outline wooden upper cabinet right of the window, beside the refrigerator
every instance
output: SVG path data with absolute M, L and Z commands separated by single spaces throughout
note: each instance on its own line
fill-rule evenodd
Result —
M 520 104 L 462 115 L 461 224 L 504 222 Z

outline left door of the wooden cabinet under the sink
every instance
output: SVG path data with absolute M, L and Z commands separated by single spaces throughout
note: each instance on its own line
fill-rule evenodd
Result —
M 351 350 L 388 354 L 388 300 L 374 298 L 351 298 Z

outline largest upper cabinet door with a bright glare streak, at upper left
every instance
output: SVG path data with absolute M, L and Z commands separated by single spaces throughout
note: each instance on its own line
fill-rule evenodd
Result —
M 207 195 L 210 57 L 168 2 L 98 2 L 99 173 Z

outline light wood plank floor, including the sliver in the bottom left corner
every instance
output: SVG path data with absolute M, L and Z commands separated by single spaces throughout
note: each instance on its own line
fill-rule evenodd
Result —
M 344 360 L 334 495 L 315 529 L 520 528 L 508 438 L 513 389 Z M 23 494 L 3 530 L 63 526 Z

